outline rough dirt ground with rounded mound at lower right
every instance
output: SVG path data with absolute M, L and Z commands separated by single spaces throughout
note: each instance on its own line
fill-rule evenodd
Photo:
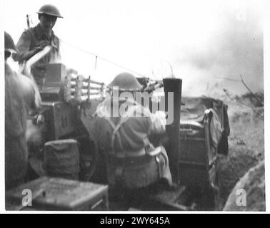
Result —
M 245 183 L 250 184 L 247 187 L 248 202 L 264 201 L 265 197 L 256 199 L 258 194 L 265 195 L 264 168 L 261 168 L 256 175 L 249 175 L 244 180 L 241 179 L 252 167 L 264 160 L 264 108 L 259 107 L 256 100 L 254 101 L 249 95 L 230 99 L 226 103 L 229 106 L 231 133 L 229 135 L 229 155 L 220 156 L 217 163 L 221 204 L 222 206 L 226 204 L 237 182 L 241 182 L 241 185 L 245 186 L 247 185 Z M 257 180 L 251 180 L 252 178 Z M 252 182 L 258 182 L 259 187 L 251 185 Z M 265 210 L 265 202 L 257 202 L 256 205 L 252 204 L 252 207 L 246 207 L 244 210 Z M 224 209 L 243 210 L 241 207 Z

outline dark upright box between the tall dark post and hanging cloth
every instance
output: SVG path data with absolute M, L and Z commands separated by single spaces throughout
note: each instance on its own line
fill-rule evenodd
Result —
M 209 122 L 180 126 L 179 179 L 181 185 L 204 190 L 209 185 Z

